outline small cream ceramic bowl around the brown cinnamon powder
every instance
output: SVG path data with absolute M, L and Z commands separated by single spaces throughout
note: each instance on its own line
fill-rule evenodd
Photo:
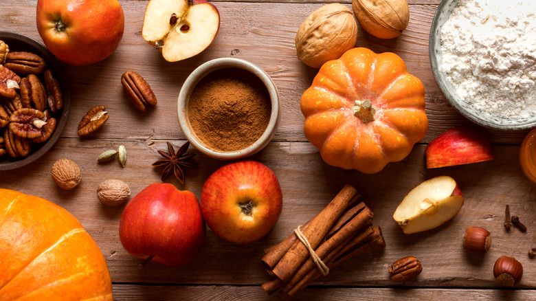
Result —
M 270 120 L 263 135 L 261 135 L 258 140 L 254 142 L 254 144 L 241 150 L 231 152 L 215 150 L 201 141 L 192 129 L 190 118 L 188 118 L 188 101 L 192 91 L 194 91 L 195 86 L 199 83 L 199 81 L 205 78 L 205 76 L 208 76 L 208 74 L 225 68 L 243 69 L 251 73 L 252 76 L 259 78 L 265 85 L 271 100 Z M 280 120 L 279 94 L 276 85 L 273 83 L 273 80 L 271 80 L 268 74 L 266 74 L 266 72 L 263 69 L 260 69 L 260 67 L 257 65 L 240 58 L 216 58 L 197 67 L 197 69 L 192 71 L 192 74 L 186 78 L 186 81 L 184 82 L 179 93 L 177 117 L 179 118 L 181 129 L 184 135 L 186 135 L 186 139 L 188 139 L 188 141 L 195 148 L 201 151 L 201 153 L 216 159 L 241 159 L 243 157 L 254 155 L 255 153 L 258 153 L 259 150 L 265 148 L 265 146 L 269 144 L 273 135 L 276 133 Z

